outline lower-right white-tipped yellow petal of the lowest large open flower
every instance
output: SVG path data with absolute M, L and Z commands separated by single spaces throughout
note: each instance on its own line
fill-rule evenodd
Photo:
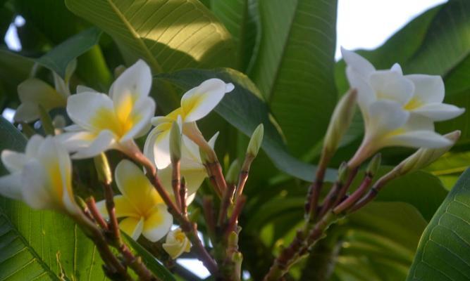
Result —
M 157 204 L 152 214 L 145 219 L 142 235 L 151 242 L 163 238 L 173 225 L 173 216 L 167 211 L 165 204 Z

